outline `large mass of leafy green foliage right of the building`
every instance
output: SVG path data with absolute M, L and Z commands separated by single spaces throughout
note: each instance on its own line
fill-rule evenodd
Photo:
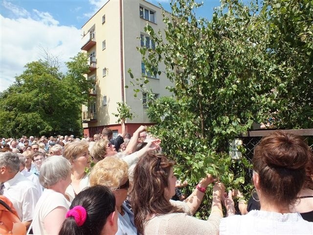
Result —
M 181 178 L 196 184 L 212 173 L 227 187 L 248 192 L 250 163 L 230 158 L 229 141 L 268 118 L 280 128 L 313 126 L 312 4 L 222 0 L 211 21 L 196 17 L 201 3 L 194 0 L 172 0 L 171 6 L 171 15 L 163 12 L 164 32 L 145 28 L 156 49 L 138 48 L 146 70 L 164 73 L 174 84 L 168 89 L 175 98 L 149 103 L 157 124 L 150 131 L 178 162 Z M 156 70 L 159 63 L 165 71 Z M 134 79 L 134 91 L 148 92 L 148 82 Z M 199 216 L 206 216 L 204 208 Z

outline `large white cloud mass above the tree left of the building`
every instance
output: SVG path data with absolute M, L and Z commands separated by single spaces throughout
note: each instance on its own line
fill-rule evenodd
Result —
M 9 6 L 19 11 L 15 11 L 13 19 L 0 15 L 0 92 L 15 81 L 16 75 L 22 74 L 27 63 L 42 58 L 42 48 L 64 63 L 82 46 L 80 29 L 59 25 L 48 12 L 34 10 L 37 17 L 32 19 L 25 9 L 12 3 Z

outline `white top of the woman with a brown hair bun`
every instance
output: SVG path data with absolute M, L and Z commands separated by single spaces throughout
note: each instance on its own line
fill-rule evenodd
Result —
M 271 211 L 250 211 L 246 215 L 233 215 L 223 218 L 220 224 L 220 235 L 285 235 L 313 234 L 313 222 L 302 219 L 299 213 Z

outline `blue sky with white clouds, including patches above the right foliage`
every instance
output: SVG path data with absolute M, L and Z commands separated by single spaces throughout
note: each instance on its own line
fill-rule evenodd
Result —
M 170 11 L 169 0 L 160 2 Z M 26 63 L 44 58 L 43 48 L 64 63 L 81 47 L 81 27 L 107 0 L 0 0 L 0 92 Z M 211 19 L 219 0 L 203 0 L 197 16 Z M 65 66 L 63 67 L 65 70 Z

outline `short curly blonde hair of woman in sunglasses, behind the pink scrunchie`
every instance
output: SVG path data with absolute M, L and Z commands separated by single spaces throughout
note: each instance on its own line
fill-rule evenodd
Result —
M 89 176 L 90 186 L 103 185 L 116 190 L 128 179 L 128 165 L 125 161 L 116 157 L 106 157 L 91 170 Z

